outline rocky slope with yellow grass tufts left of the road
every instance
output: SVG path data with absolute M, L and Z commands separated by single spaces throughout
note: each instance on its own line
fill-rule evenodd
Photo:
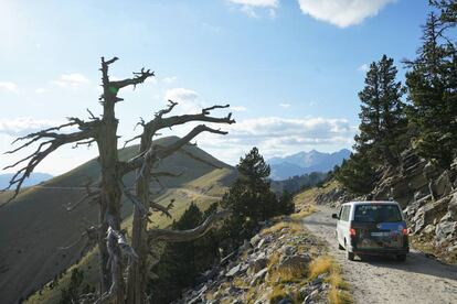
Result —
M 177 303 L 350 302 L 326 245 L 304 228 L 300 215 L 263 226 Z

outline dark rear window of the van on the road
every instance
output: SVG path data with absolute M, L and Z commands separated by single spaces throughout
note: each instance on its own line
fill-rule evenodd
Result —
M 354 221 L 394 222 L 402 220 L 402 214 L 396 205 L 366 204 L 355 206 Z

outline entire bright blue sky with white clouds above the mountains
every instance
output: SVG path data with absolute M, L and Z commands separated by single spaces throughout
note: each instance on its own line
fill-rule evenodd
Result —
M 121 140 L 172 98 L 177 113 L 232 105 L 230 135 L 196 140 L 231 164 L 253 145 L 267 159 L 350 148 L 364 67 L 385 53 L 403 77 L 400 61 L 414 57 L 429 11 L 426 0 L 132 2 L 0 2 L 0 151 L 65 117 L 86 118 L 86 108 L 99 113 L 100 56 L 120 58 L 115 78 L 142 66 L 157 75 L 120 93 Z M 20 155 L 2 155 L 0 165 Z M 38 171 L 63 173 L 94 155 L 62 149 Z

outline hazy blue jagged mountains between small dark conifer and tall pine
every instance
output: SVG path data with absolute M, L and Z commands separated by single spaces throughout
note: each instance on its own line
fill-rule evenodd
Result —
M 342 149 L 333 153 L 323 153 L 316 150 L 299 152 L 285 158 L 273 158 L 268 161 L 272 167 L 270 178 L 275 181 L 287 180 L 295 175 L 309 174 L 311 172 L 328 172 L 334 165 L 341 164 L 348 159 L 351 151 Z

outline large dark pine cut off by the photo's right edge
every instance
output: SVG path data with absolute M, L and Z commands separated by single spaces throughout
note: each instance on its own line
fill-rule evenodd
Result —
M 445 36 L 447 26 L 435 14 L 423 26 L 417 57 L 406 62 L 406 85 L 416 128 L 414 145 L 419 154 L 448 167 L 457 152 L 457 52 Z

